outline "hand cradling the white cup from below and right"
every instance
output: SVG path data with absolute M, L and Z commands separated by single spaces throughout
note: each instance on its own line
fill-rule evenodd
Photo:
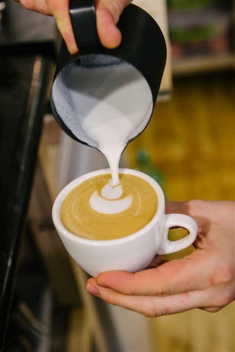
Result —
M 147 317 L 201 308 L 217 312 L 235 299 L 235 202 L 168 203 L 167 212 L 198 223 L 196 251 L 135 274 L 113 271 L 89 279 L 88 292 Z

